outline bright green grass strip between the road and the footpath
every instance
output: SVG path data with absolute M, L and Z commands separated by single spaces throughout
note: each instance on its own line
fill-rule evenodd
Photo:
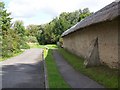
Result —
M 64 81 L 63 77 L 61 76 L 52 55 L 52 49 L 53 47 L 56 48 L 56 46 L 47 46 L 49 46 L 49 49 L 44 49 L 44 58 L 47 68 L 49 88 L 70 88 L 70 86 Z

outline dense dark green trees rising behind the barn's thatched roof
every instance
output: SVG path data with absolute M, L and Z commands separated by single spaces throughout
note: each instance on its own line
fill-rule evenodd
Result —
M 39 44 L 57 43 L 65 30 L 91 14 L 88 8 L 76 10 L 75 12 L 63 12 L 51 22 L 40 25 L 36 35 Z

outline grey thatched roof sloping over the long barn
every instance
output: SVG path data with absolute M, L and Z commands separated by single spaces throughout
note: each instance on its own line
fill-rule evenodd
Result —
M 111 21 L 118 16 L 120 16 L 120 0 L 116 0 L 112 2 L 111 4 L 97 11 L 93 15 L 88 16 L 84 20 L 78 22 L 76 25 L 66 30 L 62 34 L 62 37 L 74 31 L 80 30 L 81 28 L 84 28 L 84 27 L 87 27 L 87 26 L 90 26 L 96 23 L 100 23 L 104 21 Z

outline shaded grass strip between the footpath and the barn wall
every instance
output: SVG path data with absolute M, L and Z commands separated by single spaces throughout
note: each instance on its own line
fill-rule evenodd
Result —
M 58 51 L 78 72 L 83 73 L 106 88 L 118 88 L 118 70 L 112 70 L 106 66 L 85 68 L 83 65 L 83 58 L 80 58 L 62 48 L 59 48 Z

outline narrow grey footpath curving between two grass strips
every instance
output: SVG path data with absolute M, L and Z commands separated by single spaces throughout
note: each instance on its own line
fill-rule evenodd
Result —
M 61 75 L 72 88 L 104 88 L 89 77 L 75 71 L 57 50 L 53 50 L 53 56 Z

